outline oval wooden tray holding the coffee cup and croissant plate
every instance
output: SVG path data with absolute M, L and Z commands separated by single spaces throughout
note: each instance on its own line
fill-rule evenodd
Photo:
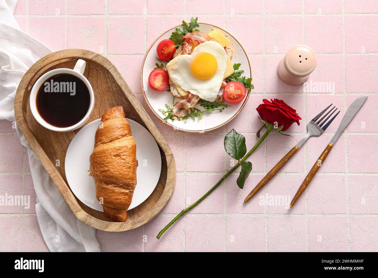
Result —
M 79 129 L 71 132 L 54 132 L 45 129 L 37 123 L 30 112 L 29 95 L 36 79 L 55 68 L 73 68 L 77 59 L 87 62 L 84 76 L 91 83 L 95 93 L 95 108 L 87 123 L 101 118 L 107 109 L 122 105 L 126 117 L 146 127 L 160 148 L 161 174 L 158 185 L 146 201 L 127 211 L 126 222 L 113 222 L 103 212 L 87 207 L 74 196 L 68 186 L 64 160 L 68 145 Z M 17 125 L 26 140 L 73 213 L 84 223 L 104 231 L 132 230 L 155 217 L 172 196 L 176 181 L 176 165 L 172 151 L 116 67 L 105 57 L 82 49 L 61 50 L 43 57 L 32 65 L 21 79 L 15 96 L 14 113 Z M 56 166 L 57 159 L 60 161 L 60 166 Z

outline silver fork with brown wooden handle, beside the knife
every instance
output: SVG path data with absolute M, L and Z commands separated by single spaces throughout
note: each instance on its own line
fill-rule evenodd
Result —
M 285 165 L 286 162 L 288 162 L 288 160 L 296 153 L 296 151 L 298 151 L 299 148 L 301 148 L 301 146 L 307 141 L 308 138 L 312 136 L 319 137 L 320 135 L 322 135 L 324 130 L 327 129 L 327 127 L 332 123 L 333 120 L 335 120 L 336 116 L 340 113 L 340 110 L 339 110 L 336 113 L 336 115 L 333 116 L 331 120 L 327 122 L 327 120 L 337 110 L 336 106 L 333 106 L 331 110 L 329 110 L 327 113 L 325 113 L 324 116 L 322 116 L 324 112 L 327 111 L 328 108 L 330 108 L 331 106 L 332 106 L 332 103 L 327 108 L 325 108 L 322 112 L 316 115 L 310 121 L 310 123 L 307 124 L 307 135 L 301 141 L 299 141 L 279 162 L 277 162 L 277 164 L 269 171 L 268 174 L 265 175 L 265 177 L 263 177 L 262 180 L 260 180 L 260 182 L 251 191 L 251 193 L 249 193 L 248 196 L 245 198 L 244 202 L 247 202 L 249 199 L 251 199 L 254 196 L 254 194 L 256 194 L 257 191 L 259 191 L 282 168 L 282 166 Z M 322 118 L 320 118 L 321 116 Z

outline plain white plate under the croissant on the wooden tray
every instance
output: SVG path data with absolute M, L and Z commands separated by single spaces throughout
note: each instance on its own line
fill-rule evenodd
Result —
M 73 194 L 85 205 L 104 211 L 96 199 L 95 181 L 89 175 L 89 156 L 95 144 L 96 129 L 101 119 L 83 127 L 68 146 L 65 172 Z M 161 157 L 158 144 L 150 132 L 136 121 L 127 119 L 136 142 L 136 187 L 129 210 L 143 203 L 155 189 L 161 172 Z

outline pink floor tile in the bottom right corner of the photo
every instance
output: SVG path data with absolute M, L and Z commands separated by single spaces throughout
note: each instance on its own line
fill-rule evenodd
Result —
M 350 217 L 352 252 L 378 252 L 378 217 Z

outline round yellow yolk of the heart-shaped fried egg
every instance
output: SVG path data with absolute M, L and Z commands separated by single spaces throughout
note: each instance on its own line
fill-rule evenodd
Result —
M 195 55 L 190 64 L 190 71 L 195 78 L 206 80 L 211 78 L 218 68 L 217 59 L 207 52 Z

